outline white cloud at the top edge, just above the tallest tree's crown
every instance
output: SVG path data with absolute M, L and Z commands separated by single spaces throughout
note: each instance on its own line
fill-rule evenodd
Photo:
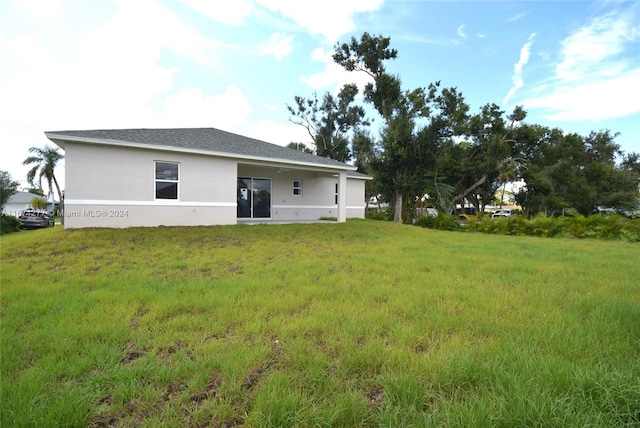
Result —
M 292 19 L 311 34 L 322 34 L 328 43 L 353 31 L 353 17 L 357 13 L 377 10 L 383 0 L 257 0 L 262 6 Z

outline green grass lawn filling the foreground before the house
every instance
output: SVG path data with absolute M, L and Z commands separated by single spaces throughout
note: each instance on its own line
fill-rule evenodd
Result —
M 354 220 L 0 246 L 2 427 L 640 425 L 638 244 Z

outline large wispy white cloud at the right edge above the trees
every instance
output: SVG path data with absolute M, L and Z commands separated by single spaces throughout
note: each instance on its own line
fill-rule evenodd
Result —
M 549 121 L 598 122 L 640 113 L 640 67 L 633 60 L 638 4 L 596 17 L 566 37 L 554 76 L 521 102 L 525 108 L 542 109 Z

